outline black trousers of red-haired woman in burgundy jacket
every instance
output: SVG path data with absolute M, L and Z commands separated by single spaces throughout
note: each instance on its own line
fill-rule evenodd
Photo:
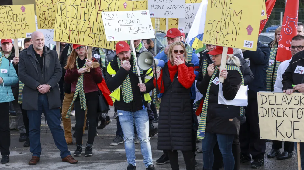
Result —
M 85 121 L 85 110 L 80 108 L 80 101 L 74 102 L 75 107 L 75 136 L 76 143 L 82 143 L 82 128 Z M 89 120 L 89 130 L 88 130 L 88 144 L 92 144 L 94 142 L 95 133 L 96 133 L 96 117 L 98 110 L 98 100 L 90 100 L 87 101 L 87 120 Z

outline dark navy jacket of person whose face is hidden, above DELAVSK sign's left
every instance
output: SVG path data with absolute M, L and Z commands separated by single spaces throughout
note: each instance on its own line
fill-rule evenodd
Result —
M 249 60 L 249 67 L 254 79 L 248 84 L 248 99 L 257 100 L 258 91 L 266 91 L 266 70 L 269 65 L 270 49 L 264 44 L 257 43 L 257 51 L 243 52 L 244 59 Z

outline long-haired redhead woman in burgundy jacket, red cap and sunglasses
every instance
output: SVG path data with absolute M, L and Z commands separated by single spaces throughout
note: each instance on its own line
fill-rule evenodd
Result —
M 96 132 L 96 117 L 98 110 L 98 87 L 97 84 L 102 81 L 102 73 L 100 67 L 90 68 L 87 72 L 86 66 L 91 67 L 92 61 L 97 61 L 92 57 L 92 61 L 86 59 L 88 50 L 82 45 L 73 45 L 67 65 L 64 67 L 67 71 L 64 76 L 66 83 L 71 83 L 71 92 L 74 93 L 74 98 L 67 112 L 67 117 L 71 114 L 71 109 L 75 107 L 75 136 L 76 150 L 74 156 L 81 156 L 82 152 L 82 128 L 84 125 L 85 111 L 89 120 L 88 141 L 85 147 L 85 157 L 92 156 L 92 145 Z

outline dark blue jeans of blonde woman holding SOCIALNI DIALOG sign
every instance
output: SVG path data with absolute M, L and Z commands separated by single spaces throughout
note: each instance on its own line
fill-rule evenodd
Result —
M 212 170 L 214 156 L 213 148 L 216 141 L 219 144 L 219 150 L 223 156 L 225 170 L 233 170 L 234 157 L 232 155 L 232 142 L 234 135 L 222 135 L 214 133 L 205 133 L 205 139 L 202 139 L 203 162 L 205 170 Z

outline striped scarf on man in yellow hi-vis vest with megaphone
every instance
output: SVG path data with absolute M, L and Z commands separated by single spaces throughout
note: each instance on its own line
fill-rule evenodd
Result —
M 134 54 L 131 52 L 131 55 L 133 57 L 133 73 L 137 74 L 137 67 L 136 67 L 136 61 L 134 59 Z M 120 68 L 121 65 L 118 57 L 117 57 L 117 63 L 118 63 L 118 68 Z M 140 70 L 140 74 L 143 74 L 143 70 Z M 132 86 L 131 86 L 131 80 L 129 74 L 127 75 L 126 79 L 123 80 L 123 83 L 121 85 L 121 93 L 123 95 L 123 100 L 126 103 L 130 103 L 133 100 Z

